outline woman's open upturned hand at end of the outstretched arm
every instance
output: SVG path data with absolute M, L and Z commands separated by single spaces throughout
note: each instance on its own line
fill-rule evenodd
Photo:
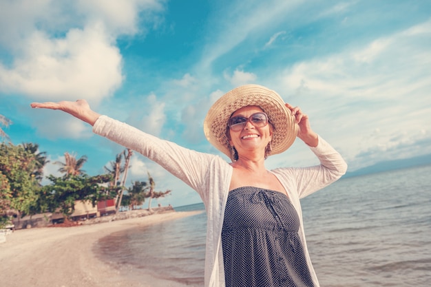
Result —
M 76 102 L 63 100 L 58 103 L 31 103 L 30 106 L 34 109 L 59 109 L 61 111 L 65 111 L 67 114 L 71 114 L 75 118 L 83 120 L 85 123 L 89 123 L 90 125 L 94 125 L 98 117 L 101 116 L 90 108 L 87 100 L 76 100 Z

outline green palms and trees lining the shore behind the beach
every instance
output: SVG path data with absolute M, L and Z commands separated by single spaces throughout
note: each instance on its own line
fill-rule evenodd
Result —
M 2 131 L 3 132 L 3 131 Z M 28 142 L 22 145 L 0 144 L 0 228 L 10 222 L 12 216 L 23 217 L 39 213 L 61 212 L 70 218 L 76 200 L 90 201 L 93 205 L 107 199 L 115 199 L 116 212 L 120 206 L 136 209 L 146 198 L 161 198 L 167 191 L 154 191 L 155 182 L 148 173 L 148 181 L 132 182 L 126 187 L 132 150 L 125 149 L 109 162 L 105 174 L 89 176 L 83 170 L 87 156 L 65 153 L 59 165 L 62 176 L 47 176 L 50 184 L 41 184 L 43 168 L 48 164 L 46 152 L 39 152 L 39 145 Z M 123 163 L 124 160 L 124 163 Z

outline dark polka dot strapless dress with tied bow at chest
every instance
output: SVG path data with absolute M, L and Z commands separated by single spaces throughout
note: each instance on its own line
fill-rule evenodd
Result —
M 257 187 L 229 192 L 222 227 L 227 287 L 313 286 L 287 196 Z

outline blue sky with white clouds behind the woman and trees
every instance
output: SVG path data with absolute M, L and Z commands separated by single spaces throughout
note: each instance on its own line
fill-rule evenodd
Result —
M 197 151 L 211 105 L 239 85 L 277 91 L 355 171 L 431 153 L 431 1 L 0 0 L 1 127 L 14 145 L 104 166 L 123 147 L 30 103 L 85 98 L 95 111 Z M 266 168 L 318 164 L 300 140 Z M 200 202 L 137 153 L 128 184 L 156 181 L 154 204 Z M 48 184 L 48 180 L 44 180 Z

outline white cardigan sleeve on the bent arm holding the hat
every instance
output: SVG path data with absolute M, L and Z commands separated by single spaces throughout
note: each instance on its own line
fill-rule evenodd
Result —
M 299 198 L 323 189 L 347 171 L 347 164 L 341 155 L 320 136 L 317 147 L 310 149 L 319 159 L 319 165 L 275 170 L 285 182 L 289 182 L 289 187 L 296 190 Z

